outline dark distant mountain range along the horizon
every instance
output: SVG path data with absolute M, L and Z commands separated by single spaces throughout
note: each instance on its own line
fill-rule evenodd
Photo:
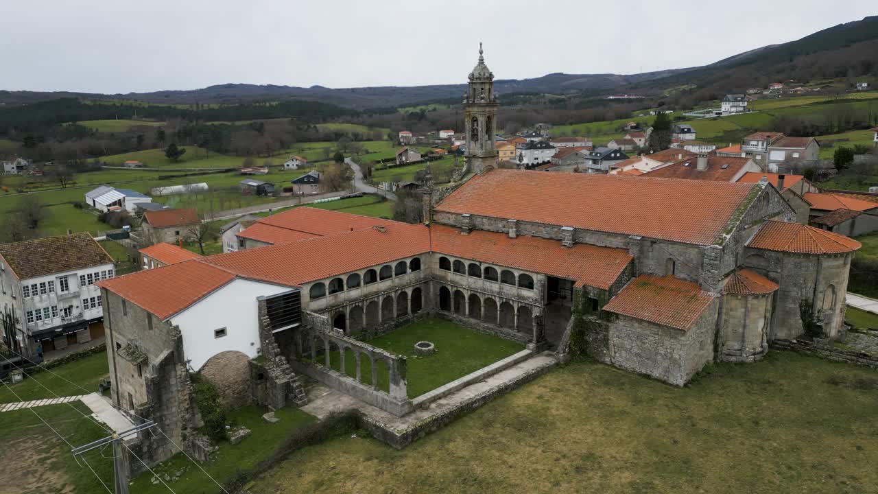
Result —
M 754 69 L 760 76 L 774 76 L 774 67 L 787 67 L 790 62 L 803 57 L 823 56 L 826 52 L 838 51 L 847 56 L 863 43 L 866 48 L 856 53 L 858 63 L 863 56 L 874 58 L 871 68 L 866 72 L 878 71 L 878 17 L 863 18 L 860 21 L 836 25 L 823 31 L 810 34 L 801 40 L 779 45 L 770 45 L 737 54 L 719 62 L 688 69 L 669 69 L 643 74 L 563 74 L 554 73 L 532 79 L 499 79 L 496 90 L 500 94 L 536 92 L 564 94 L 588 91 L 589 93 L 609 93 L 613 91 L 646 91 L 666 89 L 680 84 L 719 84 L 733 75 L 733 71 Z M 809 59 L 811 60 L 811 59 Z M 823 60 L 823 59 L 820 59 Z M 868 60 L 866 61 L 868 62 Z M 786 69 L 788 70 L 788 69 Z M 838 71 L 838 68 L 827 69 Z M 860 67 L 860 71 L 864 71 Z M 779 76 L 781 72 L 777 73 Z M 832 77 L 837 74 L 820 74 Z M 722 89 L 722 88 L 721 88 Z M 731 89 L 731 88 L 729 88 Z M 38 92 L 38 91 L 0 91 L 0 104 L 22 105 L 54 98 L 98 98 L 134 99 L 157 104 L 236 104 L 260 100 L 279 100 L 285 98 L 312 99 L 324 103 L 354 108 L 378 108 L 399 105 L 412 105 L 433 101 L 452 100 L 462 97 L 465 84 L 435 84 L 426 86 L 380 86 L 362 88 L 330 89 L 323 86 L 309 88 L 283 85 L 257 84 L 219 84 L 190 91 L 154 91 L 128 94 L 90 94 L 77 92 Z

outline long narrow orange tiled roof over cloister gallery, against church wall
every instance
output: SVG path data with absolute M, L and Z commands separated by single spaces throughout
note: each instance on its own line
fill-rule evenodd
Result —
M 573 280 L 576 287 L 588 285 L 603 290 L 618 280 L 632 257 L 623 249 L 575 243 L 562 247 L 558 240 L 473 230 L 462 235 L 459 229 L 430 225 L 433 251 L 495 265 L 541 272 Z

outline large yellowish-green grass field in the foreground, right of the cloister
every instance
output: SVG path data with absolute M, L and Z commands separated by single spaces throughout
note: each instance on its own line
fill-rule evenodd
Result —
M 251 483 L 274 492 L 874 492 L 878 373 L 792 352 L 674 388 L 572 363 L 397 451 L 340 437 Z

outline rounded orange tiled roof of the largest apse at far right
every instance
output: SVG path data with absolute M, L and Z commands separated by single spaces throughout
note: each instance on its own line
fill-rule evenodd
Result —
M 808 225 L 771 220 L 762 224 L 747 247 L 796 254 L 841 254 L 860 249 L 860 243 Z

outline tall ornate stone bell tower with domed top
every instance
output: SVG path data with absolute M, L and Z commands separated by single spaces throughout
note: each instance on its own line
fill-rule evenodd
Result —
M 479 43 L 479 63 L 470 72 L 470 87 L 464 98 L 466 160 L 472 171 L 481 174 L 497 168 L 494 140 L 497 128 L 497 97 L 493 91 L 493 74 L 485 65 Z

